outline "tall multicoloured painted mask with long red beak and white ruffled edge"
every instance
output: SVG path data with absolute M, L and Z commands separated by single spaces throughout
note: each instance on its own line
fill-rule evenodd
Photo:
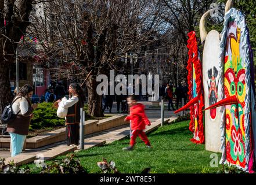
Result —
M 254 62 L 243 14 L 226 6 L 219 61 L 221 100 L 205 110 L 222 106 L 222 162 L 253 172 L 255 158 Z

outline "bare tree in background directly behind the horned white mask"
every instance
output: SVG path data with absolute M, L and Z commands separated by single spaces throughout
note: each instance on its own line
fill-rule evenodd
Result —
M 164 25 L 163 40 L 165 46 L 170 47 L 170 56 L 174 62 L 175 68 L 179 66 L 179 80 L 186 79 L 186 61 L 188 60 L 188 50 L 186 48 L 188 33 L 196 31 L 199 36 L 200 17 L 211 8 L 211 3 L 215 1 L 208 0 L 154 0 L 154 5 L 160 7 L 158 16 L 161 17 Z M 221 6 L 221 5 L 219 5 Z M 221 8 L 221 7 L 219 7 Z M 211 23 L 221 23 L 223 11 L 219 15 L 211 18 Z M 199 42 L 200 44 L 200 42 Z M 176 69 L 172 79 L 177 76 Z

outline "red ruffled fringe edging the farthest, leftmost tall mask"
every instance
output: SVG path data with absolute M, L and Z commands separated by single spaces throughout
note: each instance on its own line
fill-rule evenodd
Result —
M 193 98 L 193 66 L 196 71 L 196 92 L 197 96 L 199 97 L 199 139 L 190 139 L 194 143 L 204 143 L 204 125 L 203 125 L 203 108 L 204 108 L 204 98 L 203 98 L 203 75 L 202 75 L 202 66 L 201 62 L 199 60 L 198 56 L 198 47 L 197 47 L 197 41 L 196 41 L 196 33 L 194 31 L 189 32 L 188 34 L 189 39 L 188 39 L 188 55 L 189 55 L 189 60 L 188 60 L 188 84 L 189 84 L 189 100 Z M 189 130 L 194 132 L 194 108 L 193 106 L 190 107 L 190 124 L 189 124 Z

